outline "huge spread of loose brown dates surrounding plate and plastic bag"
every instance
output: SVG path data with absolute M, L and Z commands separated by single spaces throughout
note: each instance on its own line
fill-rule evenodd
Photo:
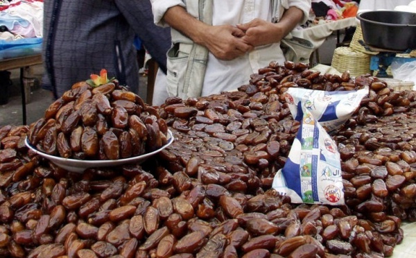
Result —
M 295 205 L 271 189 L 300 127 L 288 87 L 369 88 L 332 135 L 345 205 Z M 145 106 L 175 141 L 141 165 L 83 174 L 28 150 L 28 126 L 3 126 L 0 257 L 389 257 L 401 222 L 416 220 L 415 96 L 270 63 L 238 91 Z

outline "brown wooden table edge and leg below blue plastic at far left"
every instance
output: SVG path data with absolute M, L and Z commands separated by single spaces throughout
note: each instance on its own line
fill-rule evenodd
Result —
M 20 69 L 21 108 L 24 125 L 26 125 L 26 92 L 30 93 L 30 85 L 24 80 L 25 68 L 40 64 L 42 64 L 42 55 L 40 54 L 0 60 L 0 71 Z

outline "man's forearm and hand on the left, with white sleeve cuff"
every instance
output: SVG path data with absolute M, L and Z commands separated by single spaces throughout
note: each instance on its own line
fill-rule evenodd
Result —
M 166 1 L 152 1 L 153 13 L 156 16 L 155 22 L 159 22 L 159 24 L 165 23 L 175 28 L 191 38 L 193 42 L 207 47 L 216 58 L 232 60 L 252 49 L 250 44 L 241 40 L 244 33 L 239 28 L 231 25 L 211 26 L 200 22 L 192 15 L 189 15 L 183 4 L 168 7 L 161 13 L 159 12 L 160 8 L 155 8 L 155 6 L 160 6 L 162 2 L 165 3 Z M 157 17 L 160 17 L 159 21 Z

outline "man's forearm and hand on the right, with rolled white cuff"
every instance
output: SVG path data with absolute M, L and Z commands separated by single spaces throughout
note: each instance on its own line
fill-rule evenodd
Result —
M 285 10 L 284 15 L 277 23 L 253 19 L 246 24 L 237 25 L 238 28 L 245 31 L 243 40 L 253 46 L 277 43 L 297 25 L 306 22 L 311 9 L 311 1 L 294 0 L 289 1 L 289 5 L 290 7 Z

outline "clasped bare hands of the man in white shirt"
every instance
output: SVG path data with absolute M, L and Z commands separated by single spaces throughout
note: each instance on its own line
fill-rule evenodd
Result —
M 233 60 L 245 55 L 255 46 L 279 42 L 283 29 L 263 19 L 246 24 L 209 26 L 203 44 L 220 60 Z

